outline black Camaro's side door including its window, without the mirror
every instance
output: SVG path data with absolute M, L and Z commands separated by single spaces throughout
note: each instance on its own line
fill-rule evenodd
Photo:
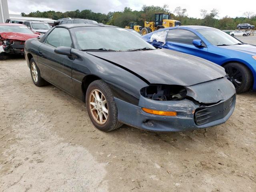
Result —
M 73 58 L 56 54 L 54 49 L 59 46 L 73 47 L 69 30 L 55 28 L 46 37 L 44 43 L 38 49 L 38 63 L 41 64 L 41 76 L 52 84 L 73 93 L 72 64 Z

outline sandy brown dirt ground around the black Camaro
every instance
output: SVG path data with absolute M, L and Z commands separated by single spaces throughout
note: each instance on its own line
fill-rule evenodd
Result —
M 0 61 L 0 191 L 255 192 L 256 93 L 225 124 L 154 133 L 96 130 L 83 102 Z

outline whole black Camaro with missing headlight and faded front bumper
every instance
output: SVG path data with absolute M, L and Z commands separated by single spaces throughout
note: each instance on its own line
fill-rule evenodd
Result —
M 36 86 L 48 82 L 86 102 L 96 128 L 122 124 L 183 131 L 222 124 L 236 92 L 224 68 L 188 54 L 156 49 L 125 29 L 64 24 L 30 39 L 25 54 Z

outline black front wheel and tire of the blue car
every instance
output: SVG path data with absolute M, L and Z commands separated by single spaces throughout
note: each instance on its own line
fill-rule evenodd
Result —
M 230 80 L 235 88 L 236 93 L 243 93 L 250 89 L 252 86 L 252 74 L 250 70 L 241 63 L 228 63 L 224 66 L 227 78 Z

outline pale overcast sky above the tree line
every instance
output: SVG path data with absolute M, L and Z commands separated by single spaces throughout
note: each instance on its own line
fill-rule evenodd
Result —
M 246 1 L 248 2 L 248 1 Z M 188 10 L 188 16 L 200 18 L 200 10 L 219 10 L 219 18 L 226 15 L 230 17 L 243 16 L 246 11 L 256 12 L 256 0 L 250 0 L 249 4 L 234 3 L 227 0 L 8 0 L 9 13 L 20 14 L 34 11 L 72 11 L 90 9 L 93 12 L 108 13 L 110 11 L 122 11 L 124 7 L 132 10 L 140 10 L 146 4 L 148 6 L 163 6 L 167 4 L 171 12 L 180 6 Z

